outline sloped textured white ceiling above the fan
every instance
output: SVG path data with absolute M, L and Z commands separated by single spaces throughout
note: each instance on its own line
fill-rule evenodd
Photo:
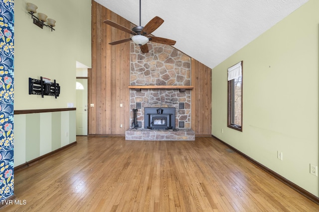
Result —
M 95 0 L 133 24 L 140 0 Z M 214 68 L 308 0 L 142 0 L 142 26 L 159 16 L 154 36 Z

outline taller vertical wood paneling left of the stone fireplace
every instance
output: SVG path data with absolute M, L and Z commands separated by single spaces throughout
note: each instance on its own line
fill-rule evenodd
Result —
M 131 28 L 129 21 L 92 0 L 89 135 L 125 135 L 130 127 L 130 42 L 114 46 L 109 43 L 129 38 L 130 34 L 103 23 L 106 19 Z

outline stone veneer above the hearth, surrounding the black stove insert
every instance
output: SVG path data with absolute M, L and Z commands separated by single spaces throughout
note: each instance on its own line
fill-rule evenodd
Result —
M 190 62 L 187 55 L 168 45 L 149 42 L 149 53 L 141 54 L 140 47 L 131 42 L 131 85 L 191 85 Z M 179 89 L 142 89 L 130 90 L 131 111 L 136 103 L 142 103 L 138 109 L 138 121 L 144 128 L 145 107 L 176 108 L 175 126 L 184 122 L 184 128 L 190 129 L 190 90 L 179 92 Z M 178 108 L 178 103 L 184 103 L 184 109 Z M 131 123 L 132 113 L 131 113 Z

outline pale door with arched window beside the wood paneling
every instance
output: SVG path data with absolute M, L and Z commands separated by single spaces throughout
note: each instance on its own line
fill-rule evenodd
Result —
M 88 135 L 88 79 L 76 79 L 76 135 Z

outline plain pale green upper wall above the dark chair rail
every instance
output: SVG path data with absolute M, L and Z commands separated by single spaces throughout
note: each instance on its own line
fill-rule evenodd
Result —
M 53 32 L 32 23 L 26 2 L 14 2 L 14 110 L 75 105 L 76 61 L 91 67 L 91 0 L 30 1 L 38 6 L 37 12 L 56 20 Z M 40 76 L 60 84 L 57 99 L 28 94 L 28 78 Z

